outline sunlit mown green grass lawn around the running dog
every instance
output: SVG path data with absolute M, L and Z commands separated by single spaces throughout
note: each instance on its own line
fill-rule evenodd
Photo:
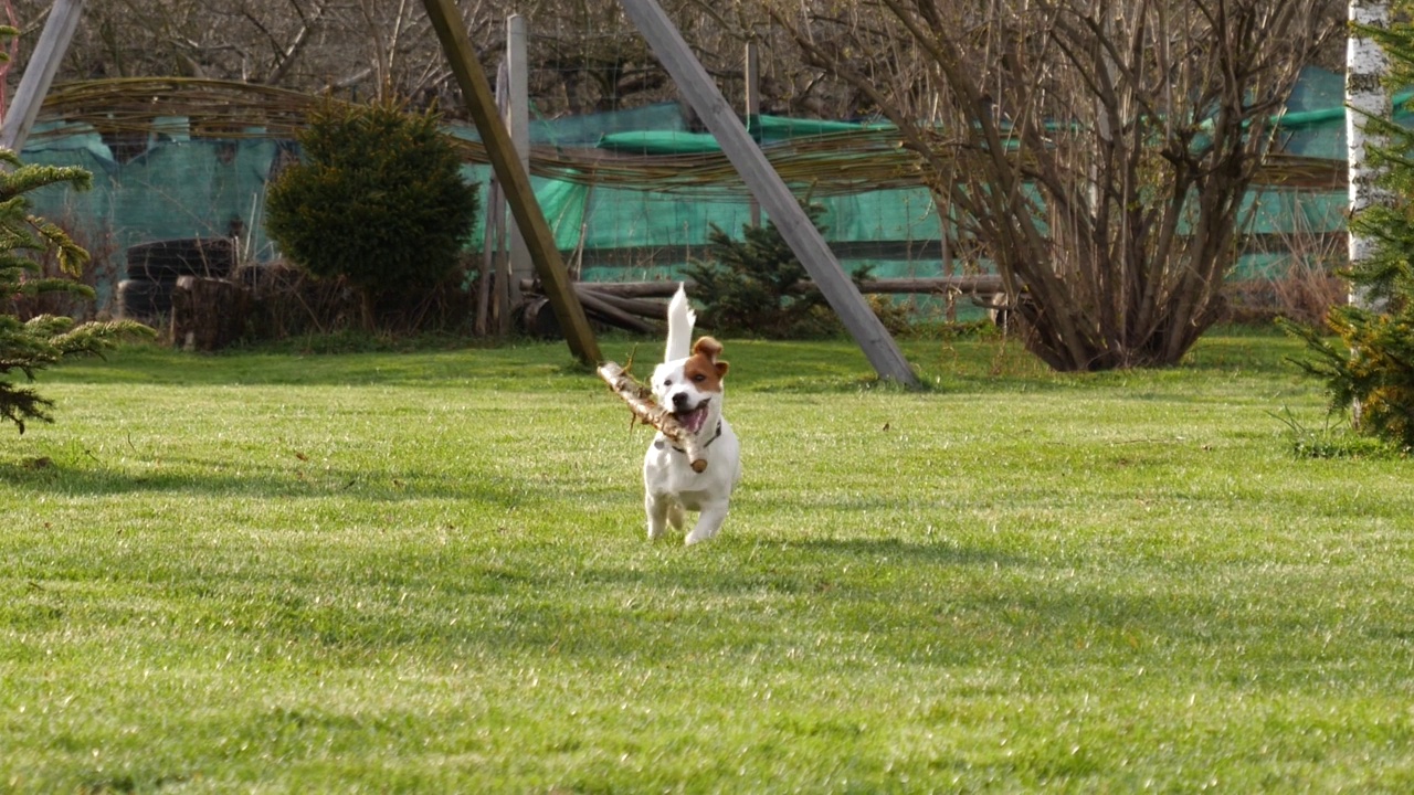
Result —
M 559 344 L 47 371 L 58 422 L 0 427 L 0 792 L 1414 789 L 1411 464 L 1292 454 L 1297 344 L 904 347 L 930 390 L 728 341 L 694 547 Z

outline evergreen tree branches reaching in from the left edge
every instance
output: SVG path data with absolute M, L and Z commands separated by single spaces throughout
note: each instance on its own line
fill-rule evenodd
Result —
M 130 334 L 153 335 L 153 330 L 133 321 L 85 323 L 71 317 L 41 314 L 21 321 L 14 314 L 16 298 L 44 293 L 71 293 L 93 298 L 93 289 L 75 282 L 88 262 L 62 229 L 28 212 L 28 191 L 66 182 L 88 190 L 92 175 L 74 167 L 23 166 L 8 150 L 0 149 L 0 417 L 24 433 L 27 420 L 52 422 L 52 400 L 34 388 L 16 383 L 11 373 L 34 381 L 35 371 L 65 356 L 102 354 Z M 34 255 L 54 252 L 64 277 L 41 277 Z

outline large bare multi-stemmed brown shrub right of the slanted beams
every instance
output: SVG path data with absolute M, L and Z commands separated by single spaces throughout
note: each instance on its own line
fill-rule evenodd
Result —
M 1220 317 L 1243 199 L 1335 0 L 881 4 L 892 25 L 773 17 L 898 126 L 1032 352 L 1063 371 L 1178 362 Z M 908 58 L 861 62 L 899 40 Z M 918 122 L 899 61 L 946 86 L 940 124 Z

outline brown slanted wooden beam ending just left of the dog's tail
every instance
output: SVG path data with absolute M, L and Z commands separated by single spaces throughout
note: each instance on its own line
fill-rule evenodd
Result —
M 510 214 L 520 229 L 526 231 L 530 259 L 534 262 L 546 297 L 550 298 L 550 308 L 564 330 L 566 342 L 581 362 L 598 366 L 602 361 L 600 344 L 594 338 L 594 330 L 590 328 L 580 298 L 570 286 L 570 277 L 564 272 L 560 250 L 554 248 L 554 235 L 544 219 L 544 212 L 534 201 L 530 177 L 520 167 L 520 160 L 510 144 L 510 134 L 496 113 L 496 100 L 491 96 L 491 85 L 486 83 L 486 74 L 477 61 L 461 16 L 452 0 L 423 0 L 423 6 L 447 54 L 471 119 L 486 146 L 486 156 L 491 158 L 496 180 L 501 181 L 506 201 L 510 202 Z

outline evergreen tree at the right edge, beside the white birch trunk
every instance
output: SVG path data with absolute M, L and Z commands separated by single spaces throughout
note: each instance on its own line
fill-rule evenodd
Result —
M 1414 1 L 1396 4 L 1394 18 L 1408 18 Z M 1390 55 L 1390 86 L 1414 83 L 1414 25 L 1367 31 Z M 1414 450 L 1414 130 L 1393 119 L 1370 119 L 1370 166 L 1396 201 L 1376 204 L 1350 219 L 1353 232 L 1374 240 L 1372 256 L 1348 276 L 1359 303 L 1336 307 L 1326 318 L 1339 344 L 1318 330 L 1284 327 L 1307 342 L 1311 361 L 1297 364 L 1326 383 L 1332 412 L 1350 412 L 1356 430 Z

